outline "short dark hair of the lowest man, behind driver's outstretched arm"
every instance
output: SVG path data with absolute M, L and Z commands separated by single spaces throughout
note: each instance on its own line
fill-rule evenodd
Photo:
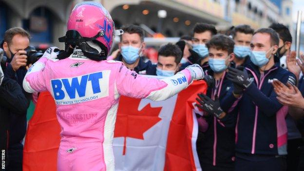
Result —
M 160 55 L 163 57 L 173 56 L 175 57 L 175 63 L 179 64 L 182 59 L 183 53 L 177 45 L 168 43 L 160 47 L 160 49 L 158 50 L 158 57 Z

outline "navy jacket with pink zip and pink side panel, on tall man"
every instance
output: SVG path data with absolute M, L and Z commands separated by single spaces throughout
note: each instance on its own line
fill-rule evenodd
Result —
M 276 99 L 277 95 L 268 80 L 276 78 L 285 84 L 287 81 L 294 82 L 296 77 L 281 68 L 278 62 L 263 74 L 253 63 L 248 64 L 246 69 L 254 81 L 237 104 L 235 150 L 248 154 L 284 155 L 287 153 L 287 132 L 282 130 L 286 129 L 287 110 L 284 111 L 283 105 Z M 235 102 L 231 99 L 232 93 L 221 103 L 225 106 L 223 108 L 231 107 Z

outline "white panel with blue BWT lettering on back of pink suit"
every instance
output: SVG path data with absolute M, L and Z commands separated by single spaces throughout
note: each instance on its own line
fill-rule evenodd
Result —
M 51 80 L 57 105 L 72 105 L 109 96 L 110 70 Z

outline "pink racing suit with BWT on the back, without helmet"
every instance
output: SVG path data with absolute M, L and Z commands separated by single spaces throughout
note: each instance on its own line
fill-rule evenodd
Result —
M 94 61 L 74 50 L 62 60 L 41 57 L 26 74 L 27 92 L 49 91 L 61 126 L 58 171 L 114 171 L 112 142 L 120 95 L 165 100 L 190 84 L 190 71 L 157 80 L 114 60 Z

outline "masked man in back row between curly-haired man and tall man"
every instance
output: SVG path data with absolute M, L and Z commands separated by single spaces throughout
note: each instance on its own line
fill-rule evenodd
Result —
M 238 25 L 232 30 L 232 38 L 235 42 L 233 53 L 234 66 L 244 66 L 250 62 L 250 41 L 254 30 L 249 25 Z

